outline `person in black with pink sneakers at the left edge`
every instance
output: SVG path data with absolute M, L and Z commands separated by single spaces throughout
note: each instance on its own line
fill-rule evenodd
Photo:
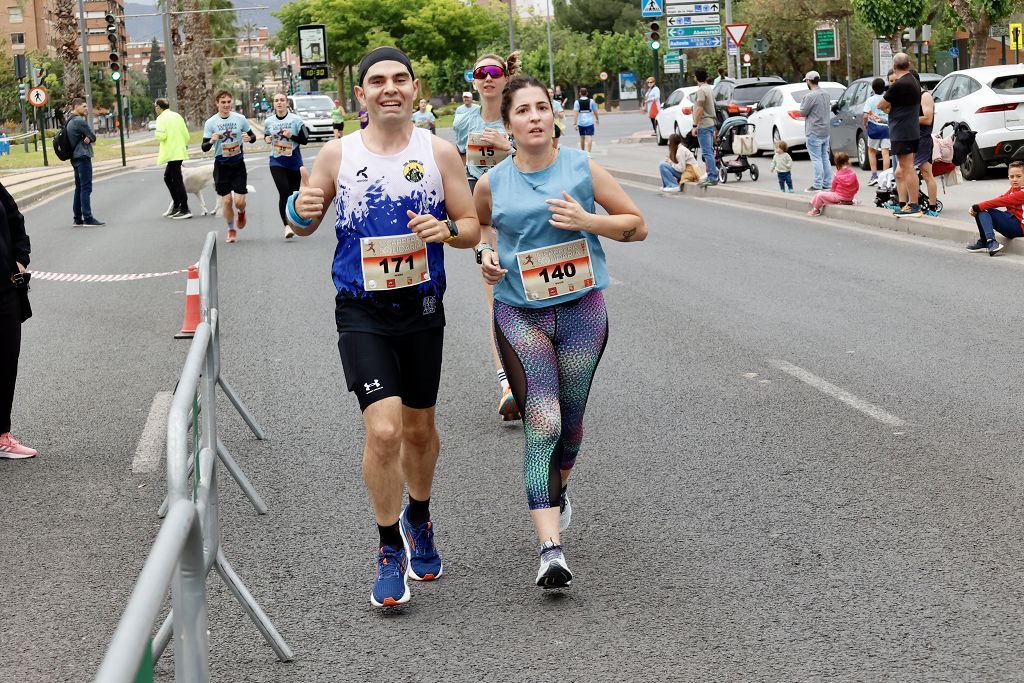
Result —
M 38 455 L 10 433 L 10 411 L 14 404 L 17 356 L 22 352 L 22 323 L 28 309 L 26 269 L 32 247 L 25 232 L 25 217 L 17 204 L 0 184 L 0 459 L 24 460 Z

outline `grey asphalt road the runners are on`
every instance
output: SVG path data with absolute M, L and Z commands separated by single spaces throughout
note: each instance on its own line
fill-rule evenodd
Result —
M 608 117 L 612 119 L 612 117 Z M 531 585 L 522 434 L 503 426 L 483 292 L 449 252 L 442 579 L 371 607 L 360 421 L 342 383 L 325 228 L 286 243 L 262 159 L 221 247 L 225 552 L 296 652 L 280 664 L 212 577 L 216 681 L 972 680 L 1024 667 L 1017 425 L 1024 261 L 827 220 L 628 188 L 651 228 L 607 245 L 611 339 L 572 483 L 572 588 Z M 207 190 L 208 201 L 212 190 Z M 33 266 L 164 271 L 219 218 L 168 221 L 159 170 L 29 212 Z M 195 209 L 196 207 L 194 207 Z M 0 462 L 0 680 L 96 670 L 159 526 L 131 473 L 187 342 L 184 279 L 34 284 L 15 433 Z M 161 680 L 171 680 L 165 657 Z

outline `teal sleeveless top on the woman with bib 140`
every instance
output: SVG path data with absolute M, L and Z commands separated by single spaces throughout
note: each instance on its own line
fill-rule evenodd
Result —
M 551 166 L 534 173 L 520 171 L 515 167 L 513 158 L 509 157 L 490 169 L 487 178 L 490 182 L 490 223 L 498 230 L 498 258 L 502 267 L 508 270 L 505 279 L 495 285 L 496 299 L 520 308 L 545 308 L 579 299 L 591 289 L 603 290 L 608 286 L 608 269 L 598 237 L 590 232 L 561 230 L 548 222 L 551 211 L 546 202 L 549 199 L 564 199 L 563 191 L 568 193 L 586 211 L 594 213 L 594 182 L 586 153 L 561 147 Z M 580 245 L 581 240 L 585 240 L 586 244 Z M 573 253 L 566 254 L 565 263 L 553 263 L 551 268 L 540 272 L 535 270 L 529 282 L 540 284 L 543 292 L 541 298 L 536 293 L 527 295 L 516 254 L 555 245 L 565 245 L 566 252 L 571 250 Z M 563 268 L 567 269 L 568 263 L 580 263 L 573 259 L 581 251 L 590 257 L 592 286 L 582 287 L 581 279 L 573 291 L 566 292 L 564 286 L 558 288 L 560 283 L 569 280 L 564 276 L 567 272 Z M 575 266 L 571 267 L 574 275 Z M 552 289 L 547 289 L 548 286 Z M 559 294 L 550 296 L 550 292 L 555 291 Z

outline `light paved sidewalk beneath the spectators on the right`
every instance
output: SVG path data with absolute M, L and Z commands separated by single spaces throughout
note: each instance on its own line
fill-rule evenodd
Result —
M 637 142 L 638 138 L 650 141 Z M 646 133 L 594 148 L 594 158 L 613 176 L 621 180 L 630 180 L 642 184 L 660 187 L 657 174 L 657 164 L 668 155 L 668 147 L 658 146 L 653 137 Z M 743 174 L 741 180 L 730 176 L 729 182 L 719 183 L 707 189 L 687 184 L 679 197 L 714 198 L 729 202 L 742 202 L 754 206 L 785 209 L 787 211 L 806 213 L 810 208 L 809 193 L 802 191 L 811 184 L 812 172 L 806 153 L 797 153 L 793 166 L 793 182 L 796 193 L 779 191 L 775 176 L 769 172 L 771 157 L 752 157 L 751 162 L 757 164 L 761 175 L 757 181 L 752 181 L 749 174 Z M 939 182 L 939 199 L 943 204 L 942 215 L 937 218 L 897 218 L 891 212 L 874 206 L 874 187 L 867 186 L 869 171 L 857 169 L 860 179 L 860 191 L 857 194 L 859 204 L 854 206 L 827 206 L 823 215 L 828 218 L 857 223 L 866 227 L 876 227 L 918 234 L 936 240 L 955 242 L 967 245 L 978 239 L 978 230 L 974 219 L 968 215 L 971 205 L 988 200 L 1007 190 L 1009 184 L 1004 168 L 989 171 L 985 180 L 965 180 L 963 184 L 946 189 L 943 194 Z M 667 197 L 674 197 L 667 195 Z M 1002 242 L 1000 240 L 1000 242 Z M 1020 243 L 1020 244 L 1018 244 Z M 1024 240 L 1008 240 L 1005 243 L 1006 252 L 1024 255 Z

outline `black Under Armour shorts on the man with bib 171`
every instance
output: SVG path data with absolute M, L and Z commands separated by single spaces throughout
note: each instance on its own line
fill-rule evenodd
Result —
M 441 381 L 443 343 L 444 328 L 391 336 L 340 333 L 338 350 L 345 382 L 359 399 L 359 410 L 390 396 L 401 397 L 408 408 L 433 408 Z

